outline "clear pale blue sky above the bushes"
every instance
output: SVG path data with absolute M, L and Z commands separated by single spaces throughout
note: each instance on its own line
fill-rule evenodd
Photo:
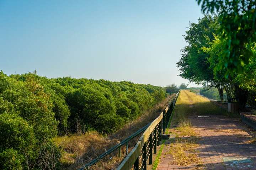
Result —
M 199 17 L 195 0 L 1 0 L 0 70 L 188 83 L 176 62 L 187 45 L 182 35 Z

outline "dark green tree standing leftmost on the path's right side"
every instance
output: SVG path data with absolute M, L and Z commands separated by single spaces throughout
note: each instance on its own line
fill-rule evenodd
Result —
M 218 72 L 214 75 L 214 68 L 211 67 L 209 54 L 206 52 L 214 40 L 218 27 L 217 16 L 204 15 L 203 18 L 198 19 L 198 23 L 190 23 L 189 30 L 184 35 L 188 46 L 181 50 L 182 57 L 177 67 L 180 69 L 181 77 L 203 84 L 207 89 L 216 87 L 220 100 L 223 101 L 223 88 L 226 83 L 224 73 Z

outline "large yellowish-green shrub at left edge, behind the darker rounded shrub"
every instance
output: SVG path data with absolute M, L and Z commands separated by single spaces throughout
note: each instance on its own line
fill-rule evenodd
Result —
M 39 140 L 57 135 L 58 121 L 54 118 L 50 96 L 32 77 L 25 81 L 17 81 L 0 72 L 1 97 L 2 102 L 9 104 L 7 110 L 13 109 L 28 121 Z

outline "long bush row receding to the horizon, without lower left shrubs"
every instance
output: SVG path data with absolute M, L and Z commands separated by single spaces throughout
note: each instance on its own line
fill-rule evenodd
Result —
M 0 113 L 16 112 L 28 120 L 39 141 L 78 126 L 114 132 L 164 97 L 162 87 L 129 81 L 0 73 Z

